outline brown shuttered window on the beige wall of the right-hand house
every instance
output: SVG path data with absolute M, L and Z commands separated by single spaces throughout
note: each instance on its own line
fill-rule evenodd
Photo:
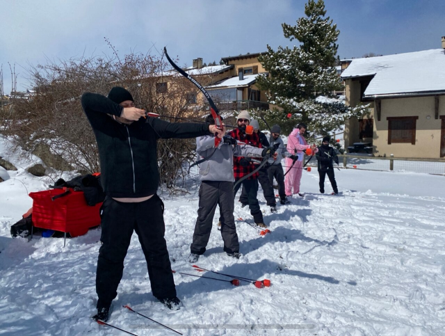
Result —
M 416 144 L 416 120 L 419 117 L 388 117 L 388 145 L 391 143 Z

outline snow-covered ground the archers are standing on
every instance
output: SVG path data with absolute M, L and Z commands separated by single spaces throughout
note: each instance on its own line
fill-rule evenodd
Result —
M 0 168 L 8 177 L 0 183 L 0 335 L 124 335 L 90 319 L 100 230 L 69 239 L 66 248 L 63 239 L 10 238 L 10 225 L 31 207 L 27 192 L 50 181 L 26 173 L 26 162 L 9 155 L 2 141 L 0 156 L 22 168 Z M 223 253 L 215 225 L 197 264 L 268 278 L 271 287 L 175 274 L 184 307 L 172 312 L 151 294 L 135 234 L 109 323 L 136 335 L 174 335 L 122 308 L 129 304 L 184 335 L 444 335 L 444 177 L 335 173 L 342 195 L 319 194 L 318 174 L 305 172 L 305 197 L 279 205 L 277 214 L 270 214 L 260 192 L 272 232 L 260 237 L 238 223 L 239 260 Z M 195 272 L 186 260 L 197 211 L 196 189 L 190 192 L 161 195 L 172 268 L 186 273 Z M 250 218 L 238 203 L 235 215 Z

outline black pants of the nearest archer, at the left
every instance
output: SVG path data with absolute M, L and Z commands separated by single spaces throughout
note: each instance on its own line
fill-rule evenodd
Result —
M 124 258 L 133 230 L 138 234 L 152 293 L 156 298 L 176 296 L 172 267 L 164 239 L 164 205 L 158 195 L 145 202 L 123 203 L 106 197 L 102 205 L 102 246 L 97 260 L 97 307 L 110 305 L 124 271 Z

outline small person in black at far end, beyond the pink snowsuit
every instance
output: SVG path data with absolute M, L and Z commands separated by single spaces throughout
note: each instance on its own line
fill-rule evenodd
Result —
M 318 175 L 320 176 L 320 192 L 325 193 L 325 177 L 329 177 L 329 180 L 332 185 L 332 189 L 334 189 L 334 195 L 339 193 L 339 189 L 337 188 L 337 182 L 335 182 L 335 174 L 334 174 L 334 165 L 335 163 L 339 164 L 339 157 L 337 157 L 337 153 L 335 152 L 333 147 L 329 145 L 330 137 L 325 136 L 321 143 L 321 146 L 318 147 L 318 152 L 316 153 L 316 159 L 318 161 Z

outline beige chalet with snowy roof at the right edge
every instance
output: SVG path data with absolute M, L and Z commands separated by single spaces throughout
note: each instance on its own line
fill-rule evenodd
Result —
M 442 49 L 342 64 L 346 104 L 371 113 L 345 125 L 345 147 L 369 143 L 375 156 L 445 157 L 445 37 Z

